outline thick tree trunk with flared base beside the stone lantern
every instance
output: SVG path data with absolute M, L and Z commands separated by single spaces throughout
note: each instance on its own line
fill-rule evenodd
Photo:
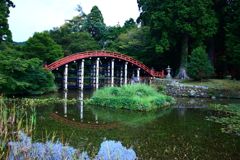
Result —
M 190 79 L 186 72 L 187 58 L 188 58 L 188 33 L 184 33 L 180 67 L 179 72 L 175 77 L 176 79 Z

